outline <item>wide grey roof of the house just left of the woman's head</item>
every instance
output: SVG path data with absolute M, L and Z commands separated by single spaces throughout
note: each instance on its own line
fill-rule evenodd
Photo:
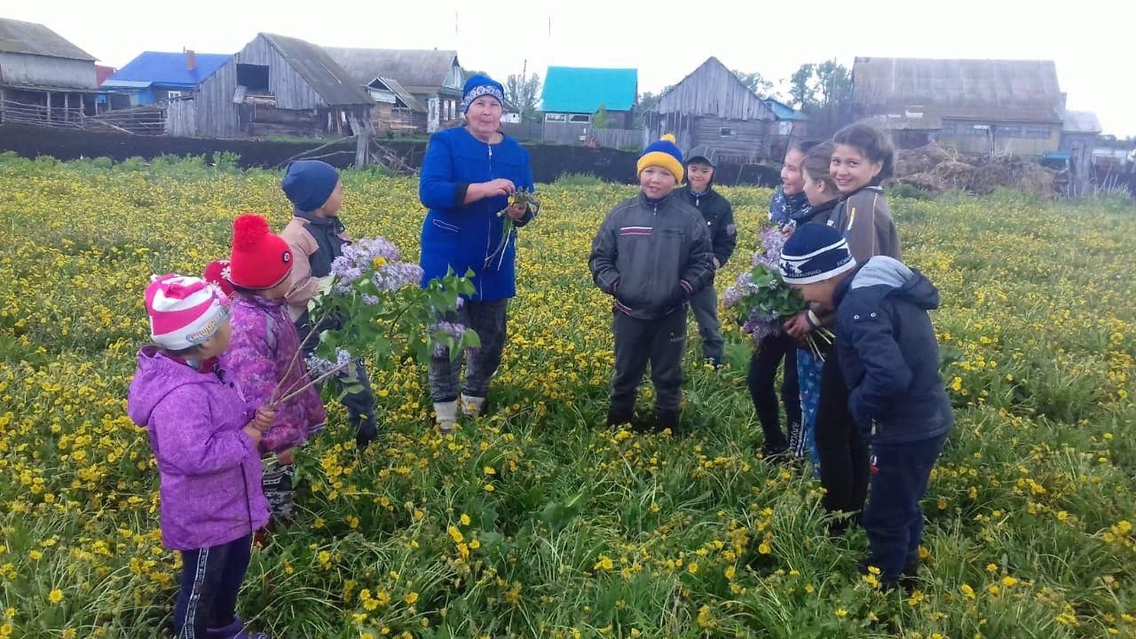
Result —
M 358 84 L 375 77 L 389 77 L 403 89 L 425 89 L 431 93 L 445 84 L 458 52 L 449 49 L 354 49 L 326 47 L 325 50 Z

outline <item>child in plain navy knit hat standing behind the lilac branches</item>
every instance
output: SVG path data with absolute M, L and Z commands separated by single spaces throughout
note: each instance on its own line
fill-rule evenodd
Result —
M 292 249 L 292 288 L 285 298 L 289 316 L 295 322 L 300 340 L 310 331 L 334 330 L 334 325 L 311 326 L 308 318 L 308 302 L 316 296 L 320 283 L 331 274 L 332 263 L 343 255 L 343 247 L 351 243 L 343 223 L 340 206 L 343 204 L 343 186 L 340 174 L 332 165 L 319 160 L 296 160 L 289 165 L 281 189 L 292 202 L 292 222 L 281 236 Z M 334 318 L 332 318 L 334 322 Z M 304 355 L 311 355 L 319 346 L 318 335 L 307 339 Z M 358 383 L 361 388 L 343 396 L 343 406 L 356 426 L 356 445 L 364 449 L 378 435 L 375 421 L 375 392 L 367 377 L 367 368 L 360 359 L 353 375 L 341 383 Z

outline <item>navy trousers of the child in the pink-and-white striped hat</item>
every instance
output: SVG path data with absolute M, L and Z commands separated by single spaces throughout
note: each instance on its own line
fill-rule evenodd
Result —
M 182 550 L 182 589 L 174 605 L 174 636 L 216 636 L 236 617 L 236 595 L 249 570 L 252 536 L 228 543 Z

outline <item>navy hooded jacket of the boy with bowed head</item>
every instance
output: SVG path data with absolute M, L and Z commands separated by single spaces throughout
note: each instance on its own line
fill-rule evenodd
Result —
M 938 308 L 935 285 L 877 256 L 841 282 L 834 301 L 849 410 L 868 440 L 904 443 L 949 432 L 954 416 L 927 314 Z

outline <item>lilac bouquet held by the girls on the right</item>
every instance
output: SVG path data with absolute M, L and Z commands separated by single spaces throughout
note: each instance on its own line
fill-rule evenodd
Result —
M 753 255 L 753 267 L 738 275 L 722 297 L 722 306 L 735 309 L 742 332 L 750 335 L 754 343 L 784 333 L 786 320 L 809 309 L 800 291 L 782 279 L 778 263 L 785 239 L 779 229 L 765 229 L 761 232 L 762 250 Z M 820 357 L 815 341 L 818 337 L 830 343 L 832 333 L 827 329 L 818 329 L 808 338 L 810 349 Z

